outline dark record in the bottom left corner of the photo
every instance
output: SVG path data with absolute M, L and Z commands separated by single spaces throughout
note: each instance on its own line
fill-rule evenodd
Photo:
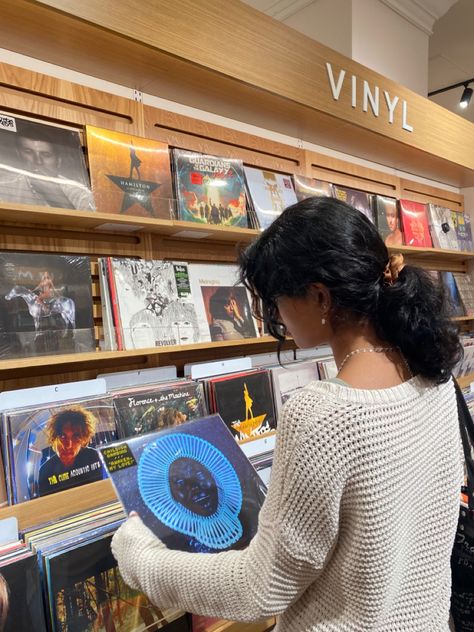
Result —
M 45 631 L 42 590 L 36 557 L 29 553 L 23 559 L 13 559 L 2 565 L 0 590 L 2 583 L 8 587 L 9 594 L 6 623 L 2 632 Z

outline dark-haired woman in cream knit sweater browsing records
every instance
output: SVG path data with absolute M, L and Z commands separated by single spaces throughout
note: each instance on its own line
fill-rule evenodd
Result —
M 286 402 L 247 549 L 168 551 L 131 517 L 113 541 L 125 580 L 160 606 L 280 615 L 279 631 L 447 631 L 461 348 L 441 290 L 332 198 L 288 208 L 241 271 L 270 332 L 329 344 L 338 378 Z

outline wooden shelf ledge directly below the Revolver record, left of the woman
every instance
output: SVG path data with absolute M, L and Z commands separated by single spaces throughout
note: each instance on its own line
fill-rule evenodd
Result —
M 173 345 L 167 347 L 152 347 L 148 349 L 134 349 L 132 351 L 96 351 L 90 353 L 70 353 L 64 355 L 32 356 L 27 358 L 13 358 L 0 361 L 0 379 L 11 378 L 15 375 L 36 375 L 38 371 L 60 373 L 67 370 L 82 370 L 89 366 L 104 368 L 105 366 L 119 366 L 127 362 L 145 360 L 154 356 L 160 365 L 160 356 L 164 362 L 183 365 L 185 362 L 205 360 L 215 355 L 215 359 L 233 357 L 235 355 L 267 353 L 276 351 L 277 342 L 270 336 L 261 338 L 245 338 L 243 340 L 226 340 L 222 342 L 200 342 L 192 345 Z M 295 348 L 292 340 L 284 343 L 285 349 Z

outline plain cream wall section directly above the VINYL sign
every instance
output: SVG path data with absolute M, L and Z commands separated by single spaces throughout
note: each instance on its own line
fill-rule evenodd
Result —
M 429 37 L 380 0 L 352 0 L 352 59 L 422 96 Z

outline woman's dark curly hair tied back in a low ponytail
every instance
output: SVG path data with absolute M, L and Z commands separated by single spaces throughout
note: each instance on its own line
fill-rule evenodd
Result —
M 414 375 L 446 382 L 462 346 L 444 290 L 410 265 L 386 284 L 388 261 L 377 229 L 360 211 L 335 198 L 312 197 L 287 208 L 239 263 L 255 315 L 280 343 L 285 327 L 276 299 L 306 296 L 313 283 L 322 283 L 331 294 L 335 331 L 369 322 L 381 340 L 400 349 Z

